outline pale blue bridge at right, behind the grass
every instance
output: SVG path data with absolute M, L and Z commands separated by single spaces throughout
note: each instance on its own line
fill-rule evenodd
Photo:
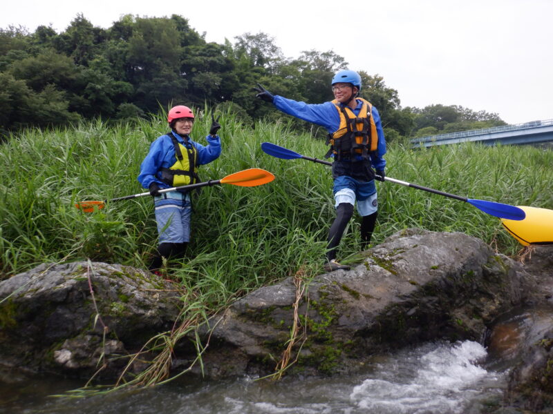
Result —
M 478 141 L 485 145 L 534 145 L 553 148 L 553 119 L 495 126 L 481 130 L 451 132 L 411 139 L 411 148 Z

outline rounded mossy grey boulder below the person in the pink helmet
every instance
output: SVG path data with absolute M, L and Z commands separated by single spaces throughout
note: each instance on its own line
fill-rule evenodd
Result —
M 171 328 L 178 297 L 143 270 L 42 264 L 0 283 L 0 363 L 90 377 L 119 375 L 128 355 Z

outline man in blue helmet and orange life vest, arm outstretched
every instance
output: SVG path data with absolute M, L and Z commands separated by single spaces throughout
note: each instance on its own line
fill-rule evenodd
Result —
M 332 78 L 335 99 L 325 103 L 308 104 L 279 95 L 272 95 L 258 83 L 256 97 L 273 103 L 288 115 L 324 126 L 328 130 L 330 150 L 334 157 L 332 178 L 336 218 L 328 233 L 325 270 L 349 269 L 339 264 L 336 253 L 346 225 L 357 212 L 362 216 L 361 239 L 364 248 L 373 235 L 377 218 L 375 179 L 384 181 L 386 140 L 378 110 L 359 97 L 361 77 L 354 70 L 340 70 Z M 375 174 L 376 171 L 376 174 Z

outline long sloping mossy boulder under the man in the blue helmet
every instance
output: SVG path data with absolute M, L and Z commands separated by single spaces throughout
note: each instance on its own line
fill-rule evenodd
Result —
M 404 230 L 364 255 L 352 270 L 303 275 L 303 285 L 299 275 L 289 277 L 213 317 L 205 329 L 205 372 L 274 372 L 289 344 L 294 303 L 301 326 L 290 371 L 336 373 L 433 339 L 482 341 L 498 315 L 537 300 L 521 264 L 462 233 Z M 306 293 L 297 301 L 301 286 Z

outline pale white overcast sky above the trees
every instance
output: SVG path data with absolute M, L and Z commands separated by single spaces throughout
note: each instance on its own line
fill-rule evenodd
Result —
M 77 13 L 109 28 L 123 14 L 180 14 L 207 41 L 265 32 L 285 57 L 332 50 L 379 74 L 402 106 L 497 112 L 509 124 L 553 119 L 553 0 L 51 0 L 3 3 L 0 28 L 52 25 Z

